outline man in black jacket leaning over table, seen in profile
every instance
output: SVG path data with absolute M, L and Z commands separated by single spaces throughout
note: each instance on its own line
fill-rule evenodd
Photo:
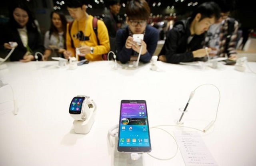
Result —
M 166 41 L 159 53 L 158 60 L 167 63 L 204 61 L 205 34 L 210 25 L 220 18 L 220 8 L 215 2 L 204 2 L 192 13 L 191 17 L 175 22 L 168 32 Z

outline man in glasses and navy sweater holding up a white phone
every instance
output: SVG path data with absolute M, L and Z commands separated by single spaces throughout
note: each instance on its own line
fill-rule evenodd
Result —
M 159 38 L 158 30 L 147 24 L 150 8 L 145 0 L 131 0 L 126 5 L 127 26 L 116 32 L 117 59 L 121 63 L 138 59 L 141 50 L 140 61 L 149 62 L 156 50 Z M 133 34 L 144 34 L 141 46 L 132 38 Z

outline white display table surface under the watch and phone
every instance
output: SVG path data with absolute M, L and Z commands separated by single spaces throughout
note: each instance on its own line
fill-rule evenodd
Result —
M 184 166 L 182 155 L 157 160 L 143 154 L 140 163 L 120 160 L 110 146 L 108 130 L 118 123 L 122 99 L 145 99 L 150 127 L 176 124 L 190 92 L 210 83 L 221 93 L 217 121 L 206 133 L 198 131 L 219 166 L 256 164 L 256 74 L 234 70 L 175 65 L 157 62 L 161 71 L 150 70 L 150 63 L 138 69 L 124 69 L 113 61 L 90 62 L 75 70 L 58 68 L 57 61 L 7 62 L 0 79 L 11 85 L 18 107 L 13 115 L 12 91 L 0 88 L 0 165 L 1 166 Z M 256 71 L 256 63 L 249 62 Z M 96 120 L 88 134 L 75 134 L 68 113 L 76 95 L 89 95 L 97 105 Z M 203 129 L 214 120 L 218 91 L 204 85 L 196 90 L 184 115 L 185 126 Z M 168 132 L 196 131 L 174 126 Z M 154 156 L 175 154 L 174 140 L 165 132 L 150 129 Z M 114 138 L 110 138 L 114 141 Z M 139 161 L 138 161 L 139 162 Z

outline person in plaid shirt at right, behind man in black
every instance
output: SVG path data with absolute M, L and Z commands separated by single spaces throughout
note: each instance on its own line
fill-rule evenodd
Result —
M 236 62 L 236 36 L 238 31 L 238 22 L 230 18 L 229 14 L 233 10 L 234 0 L 215 1 L 220 7 L 220 18 L 215 24 L 210 26 L 205 38 L 206 46 L 214 50 L 212 56 L 225 57 Z

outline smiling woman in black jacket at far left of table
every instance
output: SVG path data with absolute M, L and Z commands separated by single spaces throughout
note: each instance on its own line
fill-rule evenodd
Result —
M 44 45 L 32 12 L 22 1 L 10 6 L 10 19 L 1 35 L 0 44 L 5 49 L 12 49 L 9 42 L 17 42 L 18 46 L 10 55 L 10 61 L 28 62 L 35 59 L 36 52 L 44 53 Z M 38 59 L 42 56 L 38 55 Z

